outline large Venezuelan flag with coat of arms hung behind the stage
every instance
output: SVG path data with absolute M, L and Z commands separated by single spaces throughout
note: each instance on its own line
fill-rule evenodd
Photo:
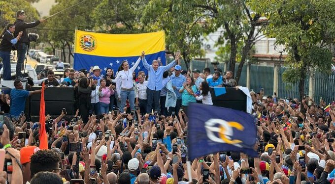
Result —
M 105 74 L 107 68 L 112 68 L 114 74 L 118 71 L 122 61 L 126 60 L 132 67 L 141 52 L 149 64 L 152 60 L 161 57 L 163 65 L 165 57 L 164 31 L 141 34 L 104 34 L 96 32 L 75 31 L 74 66 L 75 70 L 98 65 Z M 135 72 L 147 70 L 142 62 Z

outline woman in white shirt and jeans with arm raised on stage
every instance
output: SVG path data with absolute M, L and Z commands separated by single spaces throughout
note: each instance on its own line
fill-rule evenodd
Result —
M 141 55 L 132 68 L 129 68 L 127 61 L 122 61 L 121 67 L 123 70 L 119 71 L 116 77 L 116 90 L 119 98 L 120 110 L 123 112 L 123 108 L 126 105 L 127 98 L 129 99 L 129 105 L 131 110 L 135 110 L 135 91 L 134 91 L 134 82 L 133 82 L 133 72 L 138 66 L 139 62 L 142 59 Z

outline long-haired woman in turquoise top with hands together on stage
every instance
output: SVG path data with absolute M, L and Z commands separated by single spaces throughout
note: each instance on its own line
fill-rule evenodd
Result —
M 195 92 L 197 92 L 197 86 L 194 79 L 192 77 L 187 77 L 183 87 L 179 90 L 179 93 L 182 93 L 181 105 L 183 106 L 185 112 L 187 112 L 187 106 L 189 103 L 197 102 L 196 98 L 193 96 Z

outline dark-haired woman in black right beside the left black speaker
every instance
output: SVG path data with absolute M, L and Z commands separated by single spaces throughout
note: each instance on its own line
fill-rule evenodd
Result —
M 91 109 L 91 91 L 93 84 L 93 79 L 82 78 L 78 85 L 79 115 L 85 124 L 88 122 L 89 110 Z

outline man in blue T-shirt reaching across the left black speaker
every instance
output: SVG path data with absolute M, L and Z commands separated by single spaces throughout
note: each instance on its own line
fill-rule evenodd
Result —
M 42 90 L 27 91 L 23 89 L 22 82 L 20 80 L 14 81 L 14 89 L 10 90 L 10 115 L 12 118 L 17 119 L 20 113 L 25 110 L 27 97 L 33 94 L 41 93 Z M 45 85 L 45 89 L 48 86 Z

